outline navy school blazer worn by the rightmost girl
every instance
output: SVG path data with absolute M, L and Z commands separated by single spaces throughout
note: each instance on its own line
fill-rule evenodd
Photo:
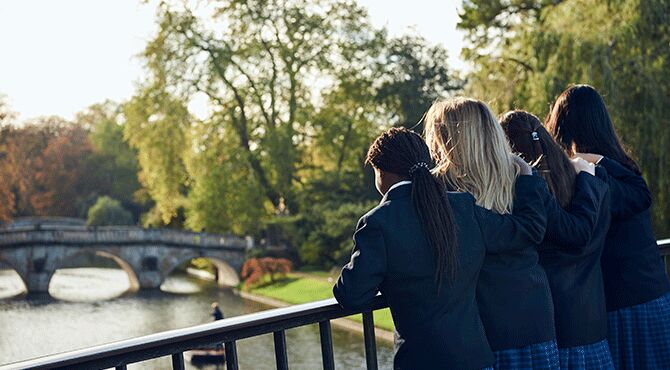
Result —
M 651 192 L 642 176 L 604 157 L 610 224 L 601 258 L 607 311 L 652 301 L 670 291 L 651 227 Z

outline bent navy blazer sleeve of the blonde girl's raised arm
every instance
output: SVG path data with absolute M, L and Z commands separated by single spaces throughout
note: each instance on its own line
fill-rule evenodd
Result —
M 497 214 L 475 207 L 487 252 L 503 252 L 534 247 L 542 242 L 547 226 L 545 200 L 547 185 L 539 176 L 520 175 L 514 186 L 511 214 Z

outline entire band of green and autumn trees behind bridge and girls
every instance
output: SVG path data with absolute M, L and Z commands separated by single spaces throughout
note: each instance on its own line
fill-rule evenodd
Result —
M 542 117 L 588 83 L 667 235 L 669 17 L 670 0 L 464 0 L 461 78 L 442 46 L 390 36 L 354 0 L 165 0 L 129 101 L 18 122 L 0 97 L 0 220 L 125 209 L 133 223 L 252 235 L 339 265 L 379 198 L 363 160 L 382 130 L 420 132 L 454 94 Z

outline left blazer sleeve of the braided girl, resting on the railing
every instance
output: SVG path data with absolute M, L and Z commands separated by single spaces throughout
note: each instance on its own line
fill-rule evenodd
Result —
M 386 274 L 386 246 L 382 230 L 371 217 L 363 217 L 354 233 L 354 248 L 333 287 L 333 295 L 346 309 L 369 303 Z

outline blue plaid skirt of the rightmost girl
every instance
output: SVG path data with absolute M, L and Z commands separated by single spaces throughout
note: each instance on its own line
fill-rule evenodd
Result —
M 670 293 L 607 313 L 617 369 L 670 369 Z

